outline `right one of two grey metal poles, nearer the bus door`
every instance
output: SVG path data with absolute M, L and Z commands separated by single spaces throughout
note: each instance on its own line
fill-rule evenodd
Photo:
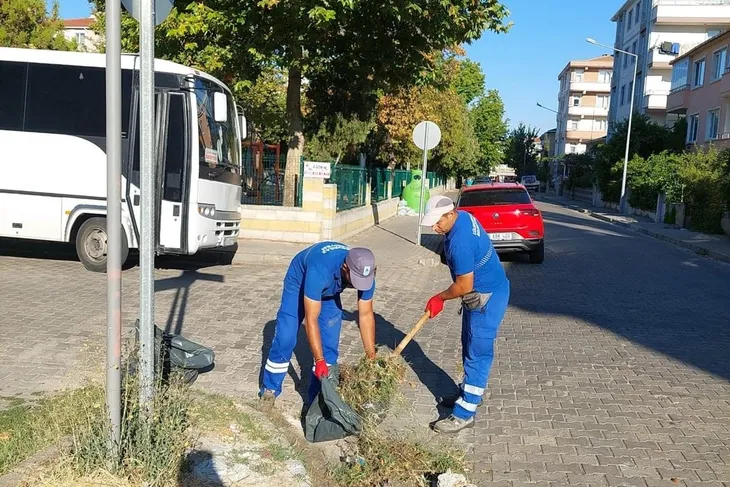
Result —
M 140 403 L 151 416 L 154 394 L 155 316 L 155 23 L 153 0 L 140 0 L 141 225 L 139 245 Z

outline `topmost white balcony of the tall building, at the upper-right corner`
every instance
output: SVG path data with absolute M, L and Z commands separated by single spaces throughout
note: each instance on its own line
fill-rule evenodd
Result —
M 726 25 L 730 0 L 657 0 L 652 21 L 657 25 Z

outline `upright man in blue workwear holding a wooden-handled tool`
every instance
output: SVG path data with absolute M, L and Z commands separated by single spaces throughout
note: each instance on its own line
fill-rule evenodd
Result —
M 440 433 L 456 433 L 474 426 L 494 359 L 494 339 L 507 311 L 510 284 L 487 232 L 470 213 L 456 210 L 450 198 L 429 199 L 421 225 L 444 235 L 446 264 L 454 281 L 428 301 L 426 311 L 435 318 L 443 311 L 444 301 L 461 298 L 464 380 L 457 396 L 441 401 L 442 406 L 453 408 L 451 415 L 434 424 Z

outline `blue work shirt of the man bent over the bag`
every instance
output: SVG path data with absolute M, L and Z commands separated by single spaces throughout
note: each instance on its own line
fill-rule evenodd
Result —
M 313 301 L 331 299 L 344 289 L 342 264 L 350 248 L 339 242 L 320 242 L 299 252 L 289 265 L 284 291 L 304 292 Z M 373 299 L 375 281 L 367 291 L 358 291 L 357 298 Z

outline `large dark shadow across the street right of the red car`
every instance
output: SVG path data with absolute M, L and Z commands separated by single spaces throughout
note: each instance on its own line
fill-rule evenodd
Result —
M 727 269 L 600 220 L 543 214 L 545 263 L 506 267 L 511 307 L 582 320 L 730 379 Z M 622 366 L 620 351 L 602 352 Z

